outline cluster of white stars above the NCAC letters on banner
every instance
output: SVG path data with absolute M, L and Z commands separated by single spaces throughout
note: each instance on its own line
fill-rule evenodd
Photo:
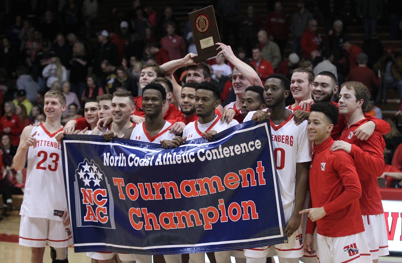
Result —
M 84 182 L 84 186 L 95 187 L 100 186 L 100 181 L 103 180 L 105 174 L 100 170 L 98 164 L 94 160 L 85 159 L 84 162 L 78 164 L 76 176 Z M 93 182 L 93 185 L 91 185 Z

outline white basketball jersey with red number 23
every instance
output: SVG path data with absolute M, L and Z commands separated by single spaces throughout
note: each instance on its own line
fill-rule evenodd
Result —
M 59 131 L 61 131 L 60 129 Z M 29 147 L 27 181 L 20 215 L 62 221 L 60 215 L 67 209 L 64 187 L 62 151 L 55 135 L 43 123 L 34 126 L 37 144 Z

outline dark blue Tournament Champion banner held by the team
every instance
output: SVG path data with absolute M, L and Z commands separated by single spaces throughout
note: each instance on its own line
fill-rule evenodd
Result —
M 168 150 L 66 135 L 74 251 L 180 254 L 286 242 L 270 138 L 265 121 Z

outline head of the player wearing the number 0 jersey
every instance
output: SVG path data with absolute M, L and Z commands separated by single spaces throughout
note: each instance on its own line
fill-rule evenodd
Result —
M 264 85 L 264 99 L 268 108 L 280 105 L 289 96 L 289 90 L 282 86 L 279 78 L 269 78 Z

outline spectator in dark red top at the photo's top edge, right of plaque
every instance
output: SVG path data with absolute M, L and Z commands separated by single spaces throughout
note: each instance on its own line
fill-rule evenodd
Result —
M 283 53 L 289 35 L 289 18 L 283 14 L 280 1 L 275 2 L 275 12 L 268 13 L 265 31 L 267 31 L 269 39 L 277 43 L 281 53 Z

